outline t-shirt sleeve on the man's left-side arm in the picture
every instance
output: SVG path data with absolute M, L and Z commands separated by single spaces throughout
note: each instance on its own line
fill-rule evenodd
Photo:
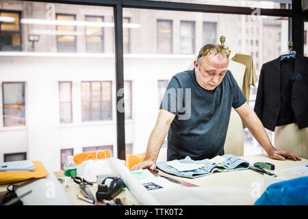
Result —
M 162 99 L 162 102 L 160 103 L 159 109 L 167 110 L 168 112 L 171 112 L 172 114 L 179 115 L 179 109 L 178 109 L 178 89 L 181 88 L 179 81 L 172 77 L 172 79 L 169 81 L 168 86 L 166 88 L 166 91 L 164 93 L 164 97 Z

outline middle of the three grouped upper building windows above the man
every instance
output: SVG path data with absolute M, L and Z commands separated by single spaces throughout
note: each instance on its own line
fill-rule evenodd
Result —
M 181 53 L 194 54 L 195 45 L 194 21 L 181 21 Z

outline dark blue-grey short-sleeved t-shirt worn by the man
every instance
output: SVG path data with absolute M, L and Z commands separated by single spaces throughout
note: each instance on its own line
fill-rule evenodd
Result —
M 229 70 L 214 90 L 198 85 L 194 69 L 173 76 L 159 107 L 176 115 L 168 131 L 167 160 L 224 155 L 231 107 L 245 102 Z

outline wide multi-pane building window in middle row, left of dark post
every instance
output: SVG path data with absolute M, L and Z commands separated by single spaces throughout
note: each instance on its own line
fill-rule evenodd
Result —
M 81 82 L 82 120 L 112 120 L 112 81 Z

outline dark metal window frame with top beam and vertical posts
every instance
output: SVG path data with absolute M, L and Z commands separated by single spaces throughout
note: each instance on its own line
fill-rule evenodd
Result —
M 23 0 L 25 1 L 25 0 Z M 32 0 L 51 3 L 70 3 L 79 5 L 100 5 L 114 8 L 115 24 L 115 54 L 116 54 L 116 90 L 124 87 L 123 72 L 123 8 L 140 8 L 151 10 L 172 10 L 187 12 L 208 12 L 222 14 L 252 14 L 254 8 L 222 6 L 222 5 L 203 5 L 195 3 L 175 3 L 166 1 L 145 1 L 145 0 Z M 301 10 L 301 1 L 292 0 L 292 10 L 287 9 L 260 9 L 260 15 L 267 16 L 287 16 L 292 18 L 292 34 L 294 50 L 296 53 L 303 55 L 304 42 L 304 20 L 308 18 L 308 12 Z M 116 103 L 123 96 L 116 96 Z M 117 126 L 117 145 L 118 158 L 125 159 L 125 114 L 116 112 Z

